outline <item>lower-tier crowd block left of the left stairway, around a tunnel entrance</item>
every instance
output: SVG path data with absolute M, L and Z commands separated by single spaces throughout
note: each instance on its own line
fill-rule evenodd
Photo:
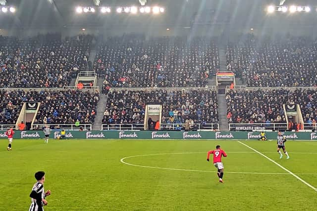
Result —
M 1 90 L 0 99 L 0 125 L 16 124 L 24 102 L 41 102 L 35 125 L 92 124 L 99 92 Z

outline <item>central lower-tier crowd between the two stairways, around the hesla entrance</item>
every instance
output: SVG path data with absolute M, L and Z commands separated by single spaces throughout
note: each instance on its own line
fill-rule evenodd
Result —
M 139 127 L 143 127 L 147 104 L 162 105 L 162 129 L 176 127 L 184 129 L 188 122 L 196 126 L 201 124 L 201 128 L 210 128 L 211 123 L 218 122 L 216 92 L 191 89 L 170 92 L 166 90 L 110 91 L 102 123 L 121 124 L 126 128 L 131 127 L 131 124 L 140 124 Z M 198 129 L 192 125 L 190 127 Z

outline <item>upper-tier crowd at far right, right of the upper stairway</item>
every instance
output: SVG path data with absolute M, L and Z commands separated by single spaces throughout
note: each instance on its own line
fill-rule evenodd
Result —
M 228 44 L 227 70 L 246 86 L 316 86 L 317 43 L 306 38 L 257 39 Z

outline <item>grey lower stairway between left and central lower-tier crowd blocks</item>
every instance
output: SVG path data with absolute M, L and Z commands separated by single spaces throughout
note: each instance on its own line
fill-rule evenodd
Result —
M 100 88 L 100 91 L 103 90 L 103 79 L 98 79 L 98 86 Z M 106 94 L 100 94 L 99 95 L 99 102 L 97 104 L 97 116 L 95 117 L 95 123 L 93 125 L 93 130 L 100 130 L 102 125 L 102 120 L 104 119 L 104 112 L 106 109 L 106 103 L 108 100 L 108 95 Z

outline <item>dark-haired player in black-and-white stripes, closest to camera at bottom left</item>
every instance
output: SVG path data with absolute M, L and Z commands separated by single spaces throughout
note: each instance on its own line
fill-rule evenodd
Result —
M 45 197 L 51 195 L 51 191 L 44 191 L 44 182 L 45 182 L 45 172 L 38 171 L 35 173 L 35 178 L 37 182 L 32 188 L 30 197 L 32 198 L 32 204 L 29 211 L 44 211 L 43 206 L 48 205 L 48 202 L 45 200 Z

